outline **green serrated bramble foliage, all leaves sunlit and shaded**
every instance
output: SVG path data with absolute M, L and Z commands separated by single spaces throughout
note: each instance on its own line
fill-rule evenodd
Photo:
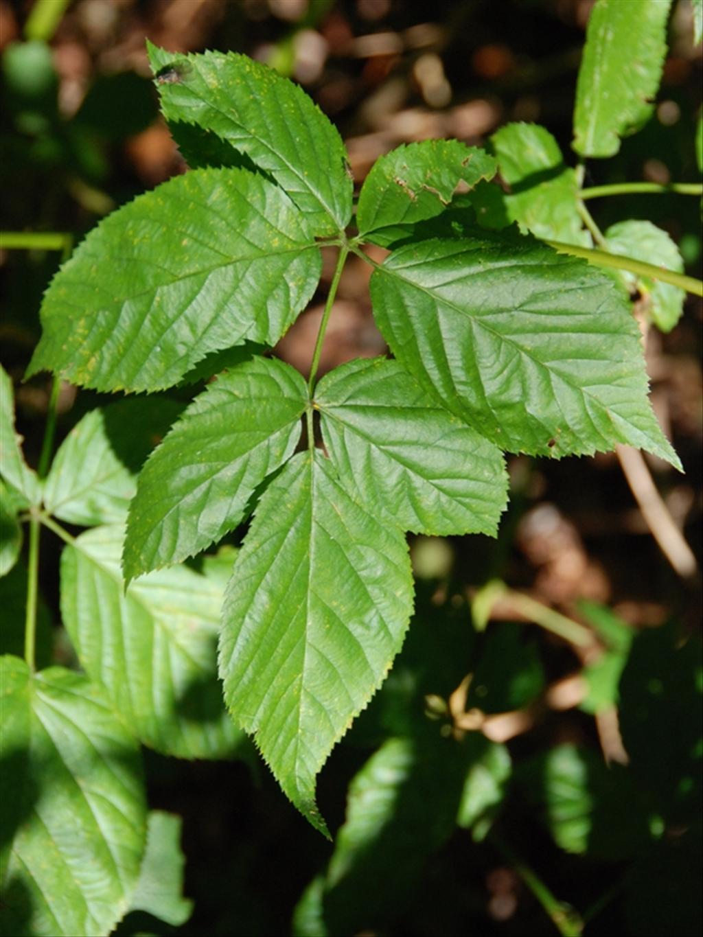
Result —
M 642 18 L 634 6 L 599 0 L 594 10 L 576 101 L 580 156 L 617 152 L 651 111 L 668 5 L 647 4 Z M 622 69 L 634 29 L 647 67 Z M 39 479 L 2 372 L 2 572 L 19 554 L 18 514 L 41 513 L 66 541 L 61 607 L 84 670 L 34 674 L 5 659 L 4 758 L 22 778 L 7 785 L 18 933 L 107 933 L 130 907 L 171 924 L 187 918 L 177 861 L 175 885 L 156 898 L 149 885 L 151 857 L 178 830 L 164 815 L 147 818 L 138 741 L 186 758 L 248 758 L 244 730 L 326 834 L 316 776 L 381 686 L 411 619 L 406 532 L 495 535 L 503 453 L 561 458 L 627 443 L 681 468 L 651 409 L 627 289 L 650 297 L 665 331 L 683 292 L 594 265 L 578 172 L 546 128 L 505 126 L 491 153 L 459 141 L 401 146 L 368 173 L 354 217 L 344 145 L 299 87 L 243 55 L 150 44 L 149 56 L 190 171 L 107 217 L 63 265 L 28 374 L 154 393 L 218 373 L 185 409 L 154 396 L 91 411 Z M 511 191 L 490 184 L 498 171 Z M 615 256 L 682 269 L 649 222 L 623 221 L 605 238 Z M 365 244 L 388 248 L 387 258 L 371 260 Z M 318 352 L 353 253 L 374 267 L 374 316 L 393 359 L 344 364 L 318 382 L 319 355 L 306 381 L 265 350 L 316 290 L 321 245 L 337 246 L 338 260 Z M 73 537 L 52 516 L 92 529 Z M 247 521 L 238 551 L 184 565 Z M 628 649 L 614 640 L 593 666 L 587 711 L 612 703 Z M 532 677 L 529 695 L 539 667 Z M 394 865 L 379 858 L 365 878 L 362 860 L 386 822 L 395 845 L 383 849 L 397 854 L 403 811 L 412 869 L 397 867 L 400 890 L 422 849 L 456 823 L 486 835 L 507 751 L 424 732 L 396 732 L 353 781 L 328 873 L 299 908 L 301 932 L 325 914 L 351 926 L 345 883 L 373 890 Z M 549 757 L 555 778 L 577 787 L 578 752 Z M 420 847 L 409 828 L 436 759 L 446 768 L 441 811 Z M 579 852 L 588 804 L 577 807 L 555 800 L 549 823 Z M 571 811 L 569 826 L 559 811 Z

